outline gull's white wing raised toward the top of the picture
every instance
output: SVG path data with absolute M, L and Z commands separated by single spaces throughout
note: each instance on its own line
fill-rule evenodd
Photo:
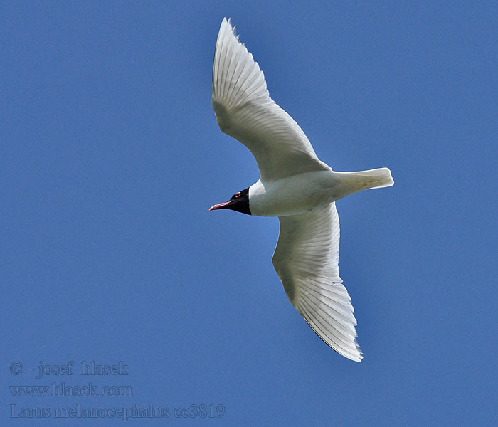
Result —
M 263 71 L 226 19 L 216 41 L 212 102 L 220 129 L 250 149 L 261 179 L 330 170 L 299 125 L 270 98 Z

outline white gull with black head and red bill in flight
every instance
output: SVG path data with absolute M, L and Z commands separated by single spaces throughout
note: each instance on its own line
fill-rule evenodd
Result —
M 335 201 L 394 184 L 388 168 L 334 172 L 321 162 L 299 125 L 270 98 L 265 76 L 223 19 L 213 63 L 213 110 L 220 129 L 253 153 L 260 179 L 209 209 L 278 216 L 273 265 L 290 302 L 332 349 L 363 358 L 351 298 L 339 277 Z

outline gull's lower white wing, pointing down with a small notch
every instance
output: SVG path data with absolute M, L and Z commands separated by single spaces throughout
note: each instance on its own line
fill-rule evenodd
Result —
M 339 277 L 339 216 L 335 203 L 280 216 L 273 265 L 292 305 L 336 352 L 360 362 L 351 298 Z

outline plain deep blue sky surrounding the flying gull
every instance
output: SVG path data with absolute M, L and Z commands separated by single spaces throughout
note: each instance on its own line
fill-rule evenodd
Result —
M 496 425 L 497 7 L 323 3 L 1 2 L 2 425 Z M 361 364 L 285 297 L 276 218 L 208 212 L 258 179 L 211 110 L 223 16 L 320 159 L 393 173 L 337 203 Z M 62 382 L 132 396 L 9 388 Z

